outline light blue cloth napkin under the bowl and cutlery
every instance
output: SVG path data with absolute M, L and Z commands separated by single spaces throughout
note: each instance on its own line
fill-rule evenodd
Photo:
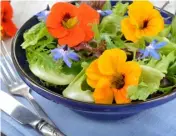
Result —
M 8 92 L 3 82 L 1 90 Z M 79 115 L 34 91 L 32 95 L 67 136 L 176 136 L 176 99 L 123 120 L 102 121 Z M 32 110 L 24 98 L 16 98 Z M 7 136 L 41 136 L 34 129 L 19 124 L 2 111 L 0 131 Z

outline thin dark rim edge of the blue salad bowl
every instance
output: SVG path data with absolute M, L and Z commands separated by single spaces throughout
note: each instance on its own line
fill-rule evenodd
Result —
M 158 8 L 159 9 L 159 8 Z M 163 10 L 162 12 L 166 13 L 166 14 L 169 14 L 170 16 L 174 16 L 172 13 L 166 11 L 166 10 Z M 32 16 L 31 18 L 35 17 Z M 157 97 L 154 97 L 154 98 L 150 98 L 150 99 L 147 99 L 146 101 L 136 101 L 136 102 L 131 102 L 131 103 L 126 103 L 126 104 L 95 104 L 95 103 L 90 103 L 90 102 L 83 102 L 83 101 L 78 101 L 78 100 L 74 100 L 74 99 L 71 99 L 71 98 L 67 98 L 67 97 L 64 97 L 63 95 L 61 94 L 58 94 L 58 93 L 55 93 L 53 92 L 52 90 L 48 89 L 47 87 L 44 87 L 42 85 L 40 85 L 38 82 L 34 81 L 30 76 L 28 76 L 28 74 L 23 70 L 23 68 L 20 66 L 19 62 L 18 62 L 18 59 L 17 59 L 17 56 L 16 56 L 16 52 L 15 52 L 15 48 L 16 48 L 16 40 L 17 40 L 17 37 L 19 36 L 19 34 L 21 33 L 20 30 L 22 27 L 25 26 L 25 24 L 30 21 L 29 18 L 21 27 L 20 29 L 17 31 L 17 33 L 15 34 L 15 36 L 13 37 L 12 39 L 12 43 L 11 43 L 11 57 L 12 57 L 12 60 L 13 60 L 13 64 L 15 66 L 15 68 L 17 69 L 17 71 L 23 76 L 23 77 L 26 77 L 27 80 L 30 82 L 30 84 L 32 84 L 33 86 L 39 88 L 40 90 L 42 91 L 45 91 L 47 93 L 49 93 L 50 95 L 54 95 L 55 97 L 59 97 L 60 99 L 63 99 L 63 100 L 66 100 L 66 101 L 71 101 L 71 102 L 74 102 L 74 103 L 77 103 L 77 104 L 84 104 L 84 105 L 89 105 L 89 106 L 100 106 L 100 107 L 121 107 L 121 106 L 137 106 L 137 105 L 143 105 L 143 104 L 147 104 L 147 103 L 151 103 L 151 102 L 156 102 L 156 101 L 159 101 L 159 100 L 163 100 L 163 99 L 166 99 L 168 97 L 171 97 L 171 96 L 174 96 L 176 95 L 176 91 L 173 91 L 173 92 L 170 92 L 168 94 L 162 94 L 160 96 L 157 96 Z M 24 81 L 25 82 L 25 81 Z M 37 92 L 38 93 L 38 92 Z M 41 95 L 41 94 L 40 94 Z M 43 96 L 44 97 L 44 96 Z M 48 99 L 48 98 L 47 98 Z

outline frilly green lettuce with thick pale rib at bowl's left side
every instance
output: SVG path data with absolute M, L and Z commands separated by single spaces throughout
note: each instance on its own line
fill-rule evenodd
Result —
M 57 47 L 57 43 L 43 22 L 25 32 L 22 46 L 31 72 L 49 84 L 68 85 L 82 69 L 81 62 L 73 62 L 68 68 L 63 60 L 53 60 L 51 50 Z

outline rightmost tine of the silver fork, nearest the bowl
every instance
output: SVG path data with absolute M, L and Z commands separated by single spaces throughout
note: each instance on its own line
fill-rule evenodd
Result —
M 1 49 L 1 53 L 2 53 L 2 56 L 3 56 L 3 58 L 4 58 L 4 62 L 5 62 L 5 65 L 6 65 L 6 69 L 8 69 L 8 71 L 10 72 L 9 74 L 12 76 L 12 78 L 13 79 L 11 79 L 11 80 L 14 80 L 15 82 L 17 82 L 18 80 L 17 80 L 17 74 L 15 74 L 15 70 L 13 69 L 13 67 L 12 67 L 12 65 L 10 65 L 10 64 L 12 64 L 12 60 L 11 60 L 11 57 L 10 57 L 10 55 L 9 55 L 9 53 L 8 53 L 8 51 L 7 51 L 7 49 L 6 49 L 6 47 L 5 47 L 5 44 L 4 44 L 4 42 L 2 41 L 2 48 L 3 48 L 3 50 L 4 50 L 4 52 L 2 51 L 2 49 Z M 6 56 L 6 54 L 7 54 L 7 56 Z M 8 57 L 8 58 L 7 58 Z M 8 59 L 8 60 L 7 60 Z M 10 61 L 9 61 L 10 60 Z

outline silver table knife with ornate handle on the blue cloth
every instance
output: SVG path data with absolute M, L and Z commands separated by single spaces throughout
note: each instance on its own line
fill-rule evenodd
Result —
M 0 109 L 23 125 L 30 125 L 44 136 L 65 136 L 44 119 L 28 110 L 11 95 L 0 91 Z

